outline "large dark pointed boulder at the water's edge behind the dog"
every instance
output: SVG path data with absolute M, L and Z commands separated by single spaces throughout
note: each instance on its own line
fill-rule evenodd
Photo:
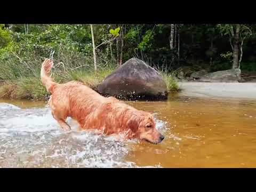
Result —
M 132 58 L 107 76 L 98 92 L 119 99 L 167 99 L 162 76 L 144 61 Z

